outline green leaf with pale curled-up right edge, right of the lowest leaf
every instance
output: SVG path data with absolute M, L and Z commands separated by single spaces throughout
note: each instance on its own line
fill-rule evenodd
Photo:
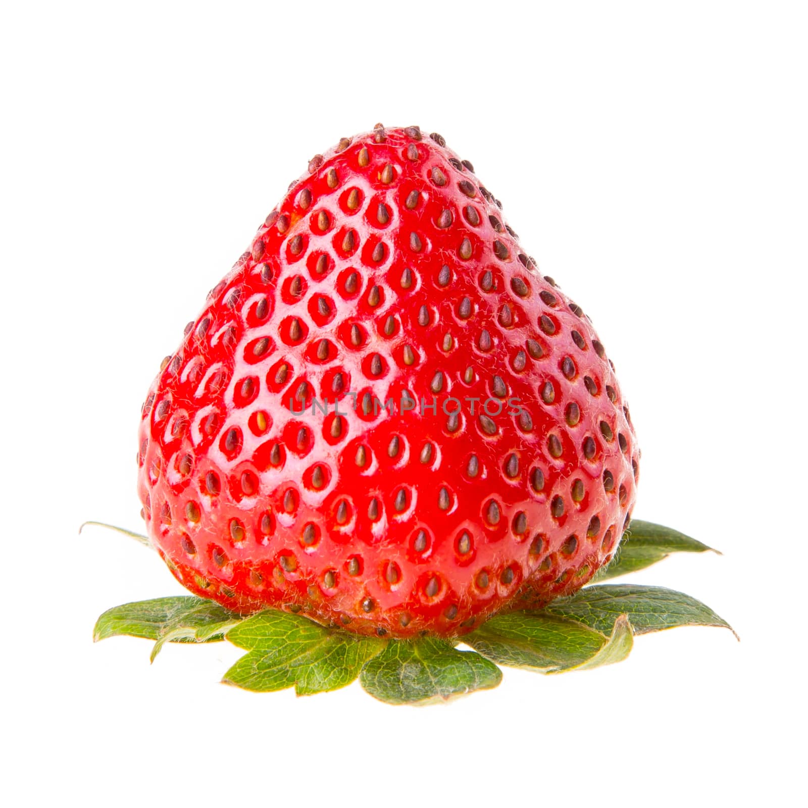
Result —
M 625 616 L 607 637 L 564 617 L 511 612 L 492 617 L 463 642 L 499 665 L 560 673 L 620 662 L 629 655 L 632 632 Z

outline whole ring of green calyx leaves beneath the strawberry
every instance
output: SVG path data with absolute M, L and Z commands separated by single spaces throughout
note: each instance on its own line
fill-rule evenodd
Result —
M 596 580 L 641 570 L 670 553 L 709 549 L 670 528 L 634 521 L 616 558 Z M 226 639 L 246 654 L 225 673 L 225 684 L 259 692 L 295 688 L 303 696 L 358 678 L 371 696 L 398 705 L 448 701 L 494 688 L 503 675 L 498 666 L 554 674 L 621 662 L 634 635 L 680 625 L 730 628 L 712 609 L 681 592 L 595 584 L 541 611 L 495 615 L 456 641 L 362 637 L 277 609 L 242 618 L 192 595 L 109 609 L 96 622 L 94 638 L 153 640 L 153 660 L 166 642 Z M 473 650 L 458 649 L 460 642 Z

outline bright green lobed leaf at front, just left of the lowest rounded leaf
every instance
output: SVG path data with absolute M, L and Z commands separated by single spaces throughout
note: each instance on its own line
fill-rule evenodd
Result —
M 298 696 L 351 684 L 385 645 L 274 609 L 242 621 L 227 638 L 249 653 L 225 673 L 226 684 L 254 691 L 294 686 Z

